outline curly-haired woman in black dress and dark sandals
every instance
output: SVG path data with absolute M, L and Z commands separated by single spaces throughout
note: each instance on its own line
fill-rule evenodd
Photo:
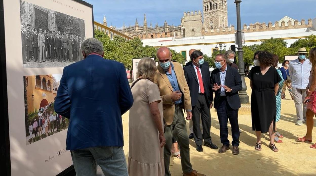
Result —
M 269 147 L 278 151 L 274 145 L 274 125 L 276 119 L 276 94 L 281 77 L 273 64 L 272 55 L 266 51 L 254 54 L 255 67 L 248 74 L 251 94 L 252 130 L 256 131 L 257 142 L 255 149 L 261 150 L 261 133 L 269 132 Z

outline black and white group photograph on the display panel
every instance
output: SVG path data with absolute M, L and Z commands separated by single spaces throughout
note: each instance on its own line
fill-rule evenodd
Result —
M 20 0 L 23 68 L 65 67 L 83 59 L 84 20 Z

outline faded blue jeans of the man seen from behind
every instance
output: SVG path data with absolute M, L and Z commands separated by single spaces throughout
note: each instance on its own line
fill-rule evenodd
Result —
M 90 147 L 70 153 L 76 176 L 95 176 L 97 163 L 106 176 L 128 176 L 123 147 Z

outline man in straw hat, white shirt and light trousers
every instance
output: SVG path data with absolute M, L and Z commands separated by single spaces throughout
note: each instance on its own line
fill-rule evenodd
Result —
M 295 125 L 302 125 L 306 120 L 306 90 L 308 89 L 308 77 L 312 69 L 312 65 L 306 58 L 306 48 L 299 48 L 296 52 L 298 58 L 291 61 L 289 65 L 289 75 L 292 79 L 292 94 L 296 108 L 297 122 Z

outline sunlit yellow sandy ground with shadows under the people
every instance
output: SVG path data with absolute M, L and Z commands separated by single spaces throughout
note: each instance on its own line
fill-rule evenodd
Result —
M 246 78 L 246 83 L 248 86 L 248 78 Z M 247 93 L 250 97 L 251 89 L 248 89 Z M 288 91 L 286 97 L 287 99 L 290 98 Z M 240 114 L 246 115 L 239 115 L 239 127 L 242 131 L 240 134 L 240 154 L 235 156 L 231 150 L 220 154 L 218 150 L 205 146 L 203 147 L 204 151 L 200 153 L 195 150 L 194 140 L 190 139 L 190 157 L 193 169 L 206 175 L 316 175 L 316 149 L 309 148 L 314 143 L 296 141 L 297 137 L 305 135 L 306 124 L 304 123 L 302 126 L 295 125 L 294 101 L 282 100 L 281 113 L 281 120 L 277 123 L 277 127 L 278 131 L 284 135 L 284 139 L 282 139 L 282 144 L 276 143 L 279 152 L 273 152 L 268 147 L 269 135 L 267 133 L 262 134 L 262 150 L 256 151 L 254 149 L 256 136 L 252 131 L 251 113 L 241 112 Z M 125 113 L 122 118 L 124 151 L 127 160 L 129 154 L 129 112 Z M 211 109 L 211 119 L 212 141 L 218 147 L 221 147 L 219 123 L 214 109 Z M 187 122 L 187 127 L 188 125 Z M 230 126 L 228 130 L 228 139 L 231 141 Z M 316 140 L 316 129 L 313 131 L 313 136 Z M 150 153 L 148 153 L 148 157 L 150 157 Z M 183 175 L 180 159 L 171 158 L 170 171 L 173 176 Z M 98 169 L 98 175 L 102 175 L 100 169 Z

